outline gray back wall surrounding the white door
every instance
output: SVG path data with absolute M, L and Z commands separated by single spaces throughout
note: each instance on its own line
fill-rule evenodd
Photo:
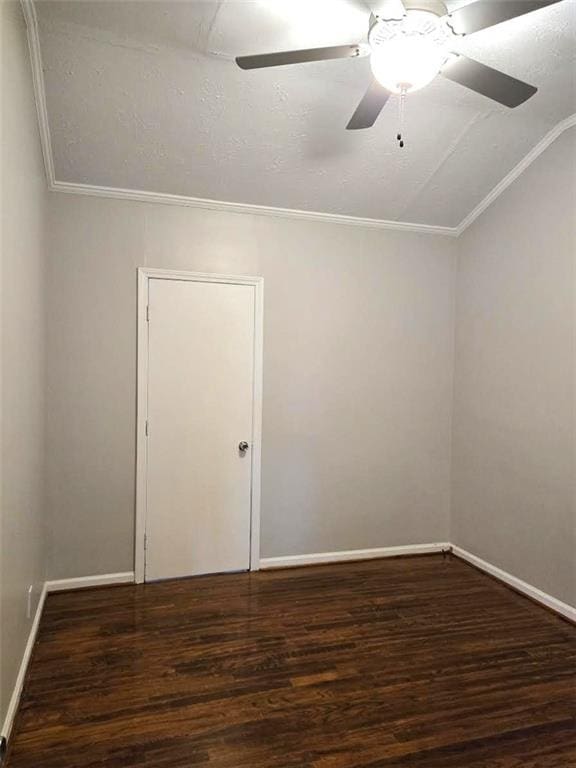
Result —
M 136 268 L 265 279 L 265 557 L 445 541 L 455 241 L 51 194 L 51 578 L 132 570 Z

